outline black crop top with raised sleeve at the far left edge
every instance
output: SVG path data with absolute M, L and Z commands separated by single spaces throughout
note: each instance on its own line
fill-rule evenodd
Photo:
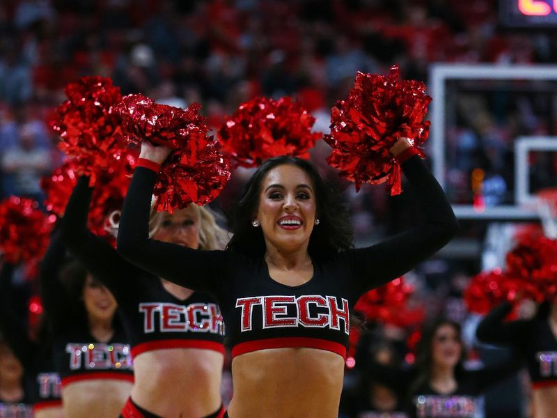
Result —
M 0 272 L 0 331 L 24 368 L 25 394 L 33 409 L 58 408 L 62 405 L 60 376 L 54 371 L 52 344 L 33 341 L 26 333 L 26 321 L 22 320 L 22 313 L 18 315 L 13 303 L 11 281 L 14 270 L 14 265 L 5 263 Z M 24 407 L 17 404 L 10 408 Z M 1 413 L 0 417 L 3 417 Z

